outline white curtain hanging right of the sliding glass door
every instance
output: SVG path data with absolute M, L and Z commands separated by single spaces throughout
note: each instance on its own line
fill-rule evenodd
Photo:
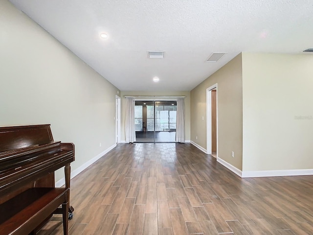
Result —
M 176 142 L 185 142 L 185 100 L 184 98 L 177 99 L 176 113 Z

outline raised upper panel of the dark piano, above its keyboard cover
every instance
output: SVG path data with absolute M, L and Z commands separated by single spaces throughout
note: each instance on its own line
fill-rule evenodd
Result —
M 0 127 L 0 152 L 52 142 L 50 124 Z

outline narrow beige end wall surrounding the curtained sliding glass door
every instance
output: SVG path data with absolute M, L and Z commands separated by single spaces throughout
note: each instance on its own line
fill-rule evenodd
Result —
M 185 140 L 190 140 L 190 92 L 121 92 L 121 141 L 125 141 L 125 98 L 123 95 L 185 95 Z

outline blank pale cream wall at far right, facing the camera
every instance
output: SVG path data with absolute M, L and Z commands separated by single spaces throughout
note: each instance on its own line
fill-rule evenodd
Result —
M 313 56 L 243 53 L 243 170 L 313 168 Z

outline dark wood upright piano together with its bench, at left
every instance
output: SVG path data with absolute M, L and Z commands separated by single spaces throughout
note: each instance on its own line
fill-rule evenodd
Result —
M 67 235 L 74 156 L 74 144 L 54 141 L 50 124 L 0 127 L 0 235 L 35 235 L 53 213 L 63 214 Z M 66 186 L 55 188 L 63 166 Z

